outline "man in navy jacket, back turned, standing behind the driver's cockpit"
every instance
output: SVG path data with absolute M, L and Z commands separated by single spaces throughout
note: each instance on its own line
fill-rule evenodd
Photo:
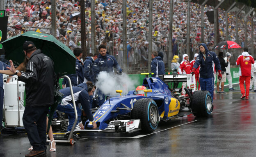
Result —
M 151 57 L 151 72 L 154 73 L 152 77 L 165 75 L 165 63 L 163 62 L 162 58 L 158 56 L 156 51 L 152 52 Z

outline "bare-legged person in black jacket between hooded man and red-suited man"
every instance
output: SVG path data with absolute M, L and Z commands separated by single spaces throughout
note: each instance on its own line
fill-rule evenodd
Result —
M 225 94 L 226 92 L 224 92 L 223 90 L 224 90 L 224 82 L 226 82 L 226 67 L 228 67 L 229 65 L 229 60 L 225 62 L 223 52 L 219 52 L 218 58 L 219 58 L 219 63 L 222 69 L 222 79 L 221 80 L 217 79 L 217 93 Z M 219 75 L 219 72 L 217 72 L 216 75 Z M 219 91 L 219 82 L 221 82 L 220 83 L 222 87 L 221 91 Z

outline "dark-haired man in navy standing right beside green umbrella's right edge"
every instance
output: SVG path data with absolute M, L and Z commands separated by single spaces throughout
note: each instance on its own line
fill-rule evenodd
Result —
M 77 86 L 80 83 L 84 82 L 85 75 L 83 70 L 83 62 L 81 61 L 82 58 L 82 49 L 81 48 L 75 48 L 74 49 L 74 55 L 77 58 L 75 60 L 75 74 L 68 75 L 72 86 Z M 62 81 L 62 88 L 69 87 L 69 82 L 67 82 L 66 78 Z

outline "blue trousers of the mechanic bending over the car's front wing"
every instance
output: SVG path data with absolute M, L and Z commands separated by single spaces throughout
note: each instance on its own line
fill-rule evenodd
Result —
M 71 131 L 72 126 L 75 122 L 75 112 L 74 112 L 73 104 L 69 103 L 69 104 L 63 105 L 63 106 L 58 104 L 57 110 L 59 110 L 61 112 L 64 112 L 66 115 L 68 115 L 68 117 L 69 117 L 69 126 L 68 126 L 67 131 Z M 82 111 L 78 107 L 78 104 L 76 105 L 76 111 L 78 113 L 78 121 L 76 122 L 75 126 L 79 123 L 81 115 L 82 115 Z

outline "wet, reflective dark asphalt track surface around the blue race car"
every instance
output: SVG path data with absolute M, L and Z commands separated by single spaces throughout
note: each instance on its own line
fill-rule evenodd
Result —
M 256 93 L 240 100 L 239 91 L 215 94 L 213 115 L 161 122 L 154 133 L 83 133 L 73 146 L 57 143 L 47 157 L 255 157 Z M 55 135 L 62 136 L 62 135 Z M 0 157 L 28 153 L 27 136 L 0 135 Z

